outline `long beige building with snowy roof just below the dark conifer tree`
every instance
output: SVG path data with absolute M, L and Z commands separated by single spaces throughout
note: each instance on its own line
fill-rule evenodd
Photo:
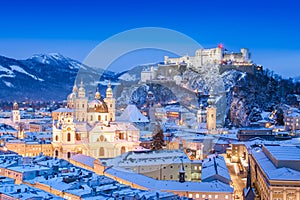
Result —
M 112 159 L 100 159 L 103 166 L 132 170 L 156 180 L 179 180 L 183 164 L 186 181 L 201 180 L 201 161 L 190 160 L 182 150 L 127 152 Z

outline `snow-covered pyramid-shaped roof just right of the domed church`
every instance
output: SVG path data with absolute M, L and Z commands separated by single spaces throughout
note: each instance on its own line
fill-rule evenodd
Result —
M 149 122 L 149 119 L 145 117 L 134 104 L 129 104 L 118 120 L 134 123 Z

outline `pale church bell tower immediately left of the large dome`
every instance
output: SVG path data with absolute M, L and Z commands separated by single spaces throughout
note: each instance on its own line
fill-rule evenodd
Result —
M 80 122 L 85 122 L 87 120 L 87 104 L 88 98 L 85 96 L 85 89 L 83 87 L 83 82 L 81 81 L 78 89 L 78 96 L 75 101 L 75 117 Z

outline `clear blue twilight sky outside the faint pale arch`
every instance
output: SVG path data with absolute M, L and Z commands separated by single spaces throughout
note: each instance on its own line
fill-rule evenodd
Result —
M 300 76 L 300 2 L 295 0 L 123 0 L 0 2 L 0 55 L 25 59 L 58 52 L 83 61 L 105 39 L 128 29 L 163 27 L 203 47 L 247 47 L 257 64 Z M 154 62 L 160 56 L 136 62 Z M 132 57 L 130 57 L 132 60 Z M 161 60 L 163 58 L 161 57 Z

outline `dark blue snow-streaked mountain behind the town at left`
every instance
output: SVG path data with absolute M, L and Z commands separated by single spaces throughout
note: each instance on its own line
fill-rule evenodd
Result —
M 57 53 L 37 54 L 26 60 L 0 56 L 0 99 L 66 99 L 79 70 L 94 82 L 100 74 L 103 80 L 115 78 L 115 73 L 103 73 Z

